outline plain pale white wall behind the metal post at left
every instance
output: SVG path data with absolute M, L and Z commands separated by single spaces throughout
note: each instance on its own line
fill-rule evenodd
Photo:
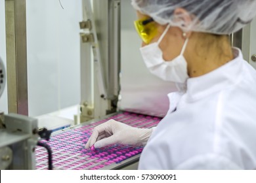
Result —
M 0 56 L 5 54 L 5 10 L 0 0 Z M 79 104 L 81 0 L 27 0 L 28 105 L 40 116 Z M 7 88 L 0 110 L 7 112 Z

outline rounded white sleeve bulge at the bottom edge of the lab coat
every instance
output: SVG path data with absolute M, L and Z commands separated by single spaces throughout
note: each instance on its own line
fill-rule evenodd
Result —
M 206 154 L 190 158 L 175 169 L 177 170 L 240 170 L 239 167 L 230 159 L 216 155 L 216 154 Z

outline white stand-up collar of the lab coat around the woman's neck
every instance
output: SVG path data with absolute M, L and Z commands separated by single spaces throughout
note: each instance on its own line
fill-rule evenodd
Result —
M 230 85 L 236 84 L 242 75 L 242 52 L 238 48 L 232 49 L 234 59 L 223 66 L 202 76 L 188 78 L 186 101 L 196 101 L 206 95 L 219 92 Z

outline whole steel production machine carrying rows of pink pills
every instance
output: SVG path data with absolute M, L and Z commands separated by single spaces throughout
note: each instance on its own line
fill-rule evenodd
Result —
M 81 103 L 76 125 L 51 134 L 39 131 L 34 118 L 3 114 L 1 169 L 137 169 L 143 146 L 85 150 L 93 128 L 110 119 L 154 127 L 169 108 L 167 93 L 177 88 L 151 75 L 139 59 L 141 41 L 133 29 L 137 17 L 130 1 L 82 0 L 81 7 Z M 251 27 L 232 35 L 232 44 L 250 59 L 253 51 L 246 54 L 245 48 L 251 45 L 242 41 L 248 31 Z

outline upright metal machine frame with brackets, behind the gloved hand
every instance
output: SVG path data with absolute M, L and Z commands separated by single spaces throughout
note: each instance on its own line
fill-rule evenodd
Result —
M 82 2 L 81 122 L 116 112 L 120 90 L 120 0 Z

